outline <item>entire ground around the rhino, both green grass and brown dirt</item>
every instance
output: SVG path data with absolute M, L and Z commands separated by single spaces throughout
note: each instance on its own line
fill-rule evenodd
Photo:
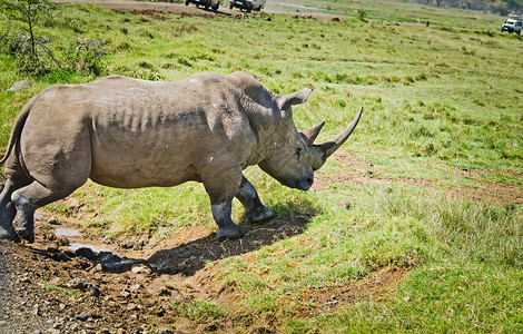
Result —
M 343 19 L 63 4 L 38 32 L 58 58 L 73 40 L 99 41 L 97 71 L 86 58 L 28 77 L 1 55 L 2 147 L 31 96 L 109 73 L 241 69 L 278 94 L 308 86 L 294 118 L 299 129 L 325 119 L 318 140 L 366 111 L 310 191 L 247 169 L 275 217 L 240 240 L 214 238 L 198 184 L 88 183 L 46 207 L 34 244 L 2 244 L 0 331 L 523 331 L 521 38 L 480 12 L 304 3 Z M 20 79 L 32 86 L 6 91 Z

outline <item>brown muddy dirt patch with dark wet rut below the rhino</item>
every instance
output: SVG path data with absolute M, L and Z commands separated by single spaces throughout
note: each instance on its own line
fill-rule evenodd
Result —
M 243 239 L 221 243 L 211 230 L 195 226 L 181 228 L 176 238 L 140 236 L 109 243 L 81 235 L 57 236 L 60 230 L 78 232 L 79 223 L 57 215 L 37 216 L 34 244 L 0 245 L 2 258 L 9 259 L 1 262 L 0 271 L 0 281 L 6 282 L 0 291 L 0 324 L 6 330 L 0 333 L 103 333 L 105 328 L 107 333 L 145 333 L 151 327 L 179 333 L 233 331 L 227 322 L 196 323 L 171 305 L 191 301 L 234 305 L 239 296 L 217 289 L 217 266 L 205 267 L 205 262 L 247 254 L 302 233 L 307 223 L 307 217 L 300 217 L 250 226 Z M 78 244 L 101 253 L 71 250 Z M 66 294 L 71 291 L 76 296 Z M 29 312 L 30 322 L 17 316 L 21 311 Z

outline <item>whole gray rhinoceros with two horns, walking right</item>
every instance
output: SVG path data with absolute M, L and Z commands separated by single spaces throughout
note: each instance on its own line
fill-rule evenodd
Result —
M 298 132 L 290 109 L 309 92 L 279 96 L 243 71 L 175 82 L 110 76 L 52 86 L 22 109 L 0 160 L 7 176 L 0 238 L 33 242 L 34 210 L 88 178 L 119 188 L 203 183 L 217 237 L 239 238 L 246 230 L 230 218 L 234 197 L 246 220 L 273 215 L 243 169 L 259 165 L 283 185 L 307 190 L 314 170 L 359 120 L 362 110 L 334 140 L 314 145 L 324 122 Z

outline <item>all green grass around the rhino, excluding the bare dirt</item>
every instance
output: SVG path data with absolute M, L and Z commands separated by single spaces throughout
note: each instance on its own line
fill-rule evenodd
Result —
M 309 223 L 304 233 L 248 257 L 209 264 L 217 266 L 219 284 L 241 296 L 239 305 L 195 302 L 175 305 L 178 312 L 201 322 L 233 318 L 245 332 L 259 323 L 286 333 L 523 331 L 521 203 L 446 196 L 448 189 L 489 185 L 522 189 L 522 39 L 492 32 L 503 21 L 500 17 L 384 3 L 322 1 L 330 11 L 352 17 L 351 10 L 363 9 L 369 19 L 433 24 L 267 13 L 243 20 L 172 14 L 157 20 L 71 4 L 38 31 L 55 40 L 57 57 L 71 40 L 105 40 L 100 76 L 176 80 L 241 69 L 278 94 L 312 87 L 309 99 L 294 115 L 298 129 L 326 120 L 318 140 L 335 136 L 359 106 L 365 107 L 342 150 L 385 170 L 379 176 L 392 186 L 343 181 L 303 193 L 284 188 L 257 167 L 247 169 L 275 219 L 299 216 Z M 27 78 L 12 57 L 0 55 L 0 146 L 6 147 L 13 119 L 31 96 L 55 82 L 96 77 L 55 71 Z M 20 79 L 32 86 L 6 91 Z M 330 160 L 319 173 L 329 177 L 344 169 L 352 167 Z M 402 181 L 412 178 L 438 187 Z M 170 230 L 179 226 L 214 227 L 207 196 L 197 184 L 120 190 L 89 183 L 77 196 L 99 213 L 86 222 L 91 233 L 118 237 L 151 230 L 176 237 Z M 243 212 L 238 203 L 235 206 L 234 218 L 240 220 Z M 407 272 L 385 301 L 363 298 L 298 316 L 304 292 L 351 286 L 383 268 Z

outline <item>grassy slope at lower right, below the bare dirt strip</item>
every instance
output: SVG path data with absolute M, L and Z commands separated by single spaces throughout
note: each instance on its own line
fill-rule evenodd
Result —
M 324 214 L 304 234 L 262 248 L 256 261 L 220 264 L 224 284 L 248 296 L 245 312 L 284 318 L 284 332 L 296 333 L 523 328 L 521 206 L 455 202 L 416 188 L 335 188 L 313 195 Z M 352 208 L 337 205 L 341 198 Z M 392 302 L 293 316 L 300 292 L 349 285 L 382 267 L 412 268 Z

